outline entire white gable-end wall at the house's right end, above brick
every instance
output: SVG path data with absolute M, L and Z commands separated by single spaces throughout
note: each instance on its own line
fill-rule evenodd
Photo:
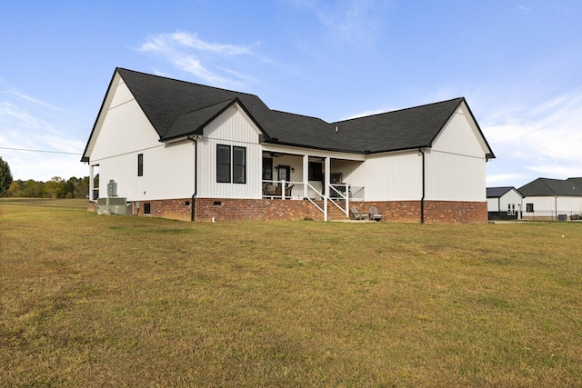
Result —
M 486 202 L 487 144 L 465 104 L 426 150 L 426 200 Z

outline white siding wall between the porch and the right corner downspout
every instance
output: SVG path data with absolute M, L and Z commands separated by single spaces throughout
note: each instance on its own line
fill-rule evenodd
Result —
M 420 200 L 422 197 L 422 156 L 416 151 L 370 156 L 364 170 L 366 184 L 362 185 L 366 186 L 367 201 Z

